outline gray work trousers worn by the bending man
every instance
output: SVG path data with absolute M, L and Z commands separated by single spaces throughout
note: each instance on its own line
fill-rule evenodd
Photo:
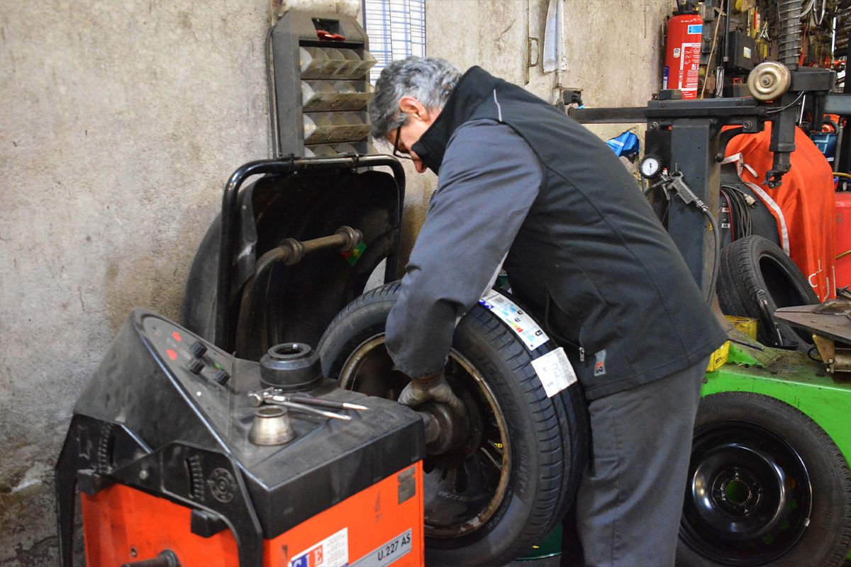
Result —
M 591 462 L 564 522 L 563 567 L 672 567 L 705 368 L 591 401 Z

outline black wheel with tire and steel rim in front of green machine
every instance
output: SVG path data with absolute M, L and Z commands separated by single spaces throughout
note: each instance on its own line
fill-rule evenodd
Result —
M 851 544 L 851 478 L 812 419 L 761 394 L 700 401 L 677 565 L 841 565 Z

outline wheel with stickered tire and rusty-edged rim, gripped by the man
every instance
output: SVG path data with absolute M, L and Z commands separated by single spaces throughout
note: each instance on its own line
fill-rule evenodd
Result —
M 398 283 L 378 287 L 332 321 L 318 347 L 324 376 L 397 398 L 408 377 L 393 370 L 384 332 L 398 292 Z M 474 433 L 460 449 L 424 461 L 428 564 L 505 564 L 543 540 L 572 505 L 586 462 L 587 410 L 578 383 L 546 396 L 531 361 L 554 348 L 529 352 L 479 305 L 456 326 L 446 374 Z

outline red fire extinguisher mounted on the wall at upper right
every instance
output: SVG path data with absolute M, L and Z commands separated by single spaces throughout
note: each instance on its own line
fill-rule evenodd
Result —
M 668 18 L 665 29 L 663 89 L 678 88 L 683 92 L 683 99 L 697 98 L 702 37 L 703 18 L 694 0 L 683 4 L 677 0 L 677 11 Z

